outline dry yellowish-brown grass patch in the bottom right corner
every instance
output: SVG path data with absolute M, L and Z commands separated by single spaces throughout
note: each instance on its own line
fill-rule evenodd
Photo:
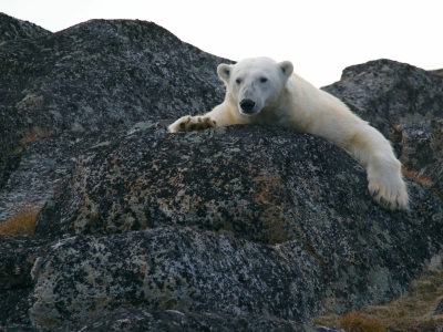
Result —
M 368 330 L 359 325 L 361 321 L 373 320 L 380 323 L 380 329 L 411 332 L 430 329 L 431 331 L 437 326 L 443 328 L 443 313 L 435 312 L 436 305 L 442 300 L 443 267 L 440 267 L 425 271 L 412 282 L 408 295 L 400 297 L 391 303 L 368 305 L 360 312 L 351 312 L 344 317 L 329 313 L 316 318 L 313 322 L 319 325 L 340 326 L 344 331 L 385 331 Z

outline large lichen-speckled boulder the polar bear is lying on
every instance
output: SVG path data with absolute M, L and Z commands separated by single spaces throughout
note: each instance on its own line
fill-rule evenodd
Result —
M 83 276 L 81 259 L 99 269 L 91 273 L 110 280 L 103 276 L 115 272 L 102 257 L 116 258 L 123 251 L 124 258 L 112 264 L 134 271 L 145 267 L 150 272 L 140 270 L 138 277 L 113 282 L 127 286 L 140 280 L 151 286 L 143 293 L 127 294 L 126 301 L 142 301 L 142 297 L 154 301 L 150 303 L 155 309 L 271 314 L 303 322 L 321 310 L 320 299 L 338 312 L 385 302 L 406 290 L 408 276 L 419 272 L 443 240 L 437 231 L 443 222 L 439 198 L 419 184 L 409 181 L 409 186 L 411 210 L 392 214 L 371 200 L 364 170 L 322 138 L 259 126 L 175 135 L 162 127 L 145 128 L 92 147 L 39 215 L 37 234 L 53 239 L 74 236 L 75 245 L 66 246 L 68 256 L 54 253 L 48 261 L 51 270 L 42 272 L 47 288 L 40 292 L 53 294 L 58 289 L 60 298 L 34 297 L 44 303 L 60 303 L 64 298 L 85 305 L 84 297 L 123 295 L 125 291 L 106 283 L 103 288 L 110 293 L 91 295 L 92 286 L 86 282 L 84 292 L 75 292 L 81 299 L 66 298 L 73 286 L 56 280 L 71 280 L 72 274 L 55 272 L 73 273 L 73 267 L 79 267 L 83 272 L 75 273 Z M 142 229 L 153 229 L 144 235 L 156 240 L 142 245 L 145 236 L 137 235 L 138 239 L 132 232 Z M 103 235 L 115 232 L 128 236 L 113 238 L 113 245 L 78 245 L 75 237 L 90 234 L 106 241 Z M 193 249 L 194 243 L 199 249 Z M 210 243 L 217 243 L 215 251 Z M 100 258 L 75 253 L 94 252 L 91 246 L 110 249 L 97 253 Z M 189 262 L 190 258 L 196 262 Z M 133 259 L 136 262 L 131 266 L 137 268 L 126 268 Z M 173 266 L 161 267 L 153 260 Z M 104 267 L 94 263 L 99 261 Z M 243 270 L 236 271 L 233 262 Z M 49 276 L 54 281 L 48 282 Z M 249 280 L 251 276 L 260 281 Z M 168 287 L 153 280 L 168 280 Z M 161 294 L 162 303 L 153 300 L 153 292 Z M 238 293 L 250 307 L 238 304 Z M 218 299 L 217 304 L 209 299 Z M 259 303 L 254 299 L 260 299 Z M 333 303 L 327 299 L 334 299 Z M 44 307 L 43 311 L 55 314 L 78 309 Z M 63 319 L 70 318 L 51 318 Z

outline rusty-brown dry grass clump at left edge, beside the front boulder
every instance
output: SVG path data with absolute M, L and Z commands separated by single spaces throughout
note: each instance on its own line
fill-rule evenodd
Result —
M 24 205 L 11 217 L 0 222 L 0 235 L 33 235 L 39 211 L 40 209 L 35 206 Z

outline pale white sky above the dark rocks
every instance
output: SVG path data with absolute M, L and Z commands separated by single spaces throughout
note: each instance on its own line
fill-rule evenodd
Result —
M 290 60 L 318 87 L 381 58 L 443 69 L 442 8 L 442 0 L 0 0 L 1 12 L 53 32 L 91 19 L 153 21 L 218 56 Z

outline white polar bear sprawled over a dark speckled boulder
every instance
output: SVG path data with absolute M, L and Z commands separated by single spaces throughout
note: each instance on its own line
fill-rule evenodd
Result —
M 291 62 L 245 59 L 218 65 L 217 74 L 226 84 L 225 101 L 205 115 L 178 118 L 169 132 L 260 124 L 322 136 L 365 168 L 378 204 L 391 210 L 408 208 L 401 164 L 389 142 L 341 101 L 293 73 Z

